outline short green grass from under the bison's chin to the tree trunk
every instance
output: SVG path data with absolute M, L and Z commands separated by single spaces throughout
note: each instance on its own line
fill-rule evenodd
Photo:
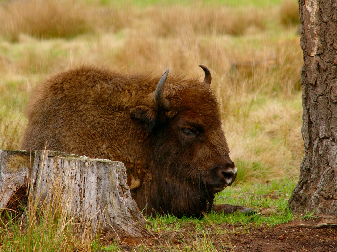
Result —
M 255 213 L 246 215 L 241 213 L 217 214 L 211 211 L 207 218 L 201 220 L 196 218 L 178 219 L 175 216 L 149 217 L 148 227 L 154 231 L 177 232 L 184 225 L 194 225 L 200 231 L 208 224 L 232 224 L 238 225 L 240 229 L 251 226 L 267 225 L 274 226 L 291 221 L 295 216 L 289 212 L 287 202 L 291 191 L 297 181 L 284 178 L 282 180 L 272 180 L 268 183 L 245 183 L 240 186 L 227 187 L 216 196 L 215 204 L 232 204 L 253 208 Z M 272 214 L 261 213 L 262 210 L 271 208 Z M 224 230 L 225 231 L 225 230 Z

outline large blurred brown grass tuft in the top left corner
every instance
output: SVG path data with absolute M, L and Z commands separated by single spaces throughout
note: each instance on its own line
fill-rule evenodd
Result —
M 75 1 L 10 1 L 0 8 L 0 33 L 11 41 L 19 41 L 20 33 L 39 39 L 71 38 L 92 30 L 87 12 Z

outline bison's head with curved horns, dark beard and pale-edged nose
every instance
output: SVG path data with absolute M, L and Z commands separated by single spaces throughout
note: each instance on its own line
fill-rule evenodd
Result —
M 149 176 L 136 202 L 146 214 L 201 216 L 213 205 L 214 194 L 231 185 L 237 168 L 229 158 L 220 108 L 210 89 L 207 67 L 203 82 L 175 82 L 165 71 L 151 105 L 133 108 L 132 119 L 149 135 L 145 141 Z

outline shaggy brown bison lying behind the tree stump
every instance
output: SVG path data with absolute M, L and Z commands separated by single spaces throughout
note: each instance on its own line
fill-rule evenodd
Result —
M 36 86 L 21 149 L 122 161 L 147 215 L 202 216 L 237 175 L 207 67 L 198 78 L 83 66 Z

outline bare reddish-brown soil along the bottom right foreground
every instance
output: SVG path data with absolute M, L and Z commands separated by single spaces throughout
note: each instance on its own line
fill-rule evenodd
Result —
M 200 232 L 193 225 L 179 232 L 157 233 L 149 239 L 120 238 L 121 251 L 231 251 L 300 252 L 337 251 L 337 228 L 312 229 L 312 221 L 294 221 L 279 226 L 241 228 L 239 225 L 205 226 Z M 208 247 L 208 249 L 206 248 Z

